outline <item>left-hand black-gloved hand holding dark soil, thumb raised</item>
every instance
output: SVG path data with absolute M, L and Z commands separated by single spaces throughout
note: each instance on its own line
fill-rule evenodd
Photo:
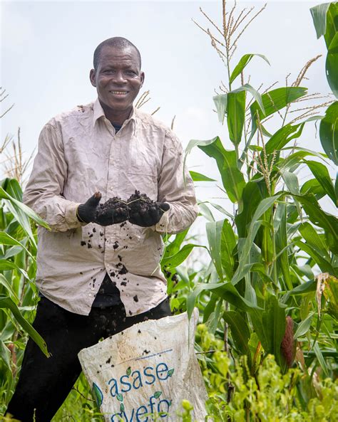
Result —
M 78 206 L 76 216 L 83 223 L 97 223 L 100 226 L 122 223 L 128 219 L 128 206 L 116 199 L 99 204 L 101 193 L 96 192 L 84 204 Z

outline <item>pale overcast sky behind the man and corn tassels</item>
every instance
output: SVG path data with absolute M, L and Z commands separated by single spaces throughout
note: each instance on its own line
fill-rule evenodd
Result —
M 1 119 L 1 139 L 16 134 L 27 154 L 36 147 L 39 132 L 54 115 L 95 100 L 89 83 L 93 51 L 106 38 L 124 36 L 140 49 L 145 72 L 145 90 L 151 101 L 144 110 L 170 125 L 186 146 L 190 139 L 220 135 L 231 149 L 227 132 L 212 112 L 212 96 L 220 81 L 227 83 L 227 70 L 210 45 L 208 36 L 192 18 L 210 27 L 199 8 L 220 23 L 221 1 L 2 1 L 1 83 L 9 97 L 1 110 L 15 103 Z M 267 8 L 243 34 L 232 68 L 245 53 L 261 53 L 270 60 L 254 58 L 247 67 L 250 85 L 258 88 L 278 81 L 275 88 L 290 83 L 310 58 L 322 54 L 307 73 L 302 86 L 309 93 L 330 92 L 325 78 L 326 49 L 317 40 L 309 8 L 312 1 L 267 1 Z M 232 3 L 229 3 L 229 7 Z M 238 9 L 263 3 L 239 1 Z M 237 88 L 240 82 L 234 84 Z M 304 131 L 300 144 L 322 150 L 314 124 Z M 211 159 L 196 150 L 190 169 L 217 177 Z M 304 174 L 303 179 L 308 174 Z M 200 187 L 199 187 L 200 186 Z M 198 184 L 199 199 L 222 196 L 215 184 Z M 214 200 L 216 201 L 216 200 Z M 218 201 L 221 203 L 221 201 Z M 329 208 L 330 210 L 330 208 Z M 332 208 L 331 208 L 332 210 Z M 220 215 L 217 214 L 217 218 Z

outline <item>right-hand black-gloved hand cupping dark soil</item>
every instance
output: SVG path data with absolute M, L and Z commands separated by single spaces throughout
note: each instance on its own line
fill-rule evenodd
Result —
M 142 202 L 140 202 L 142 204 Z M 143 206 L 129 209 L 128 220 L 132 224 L 141 227 L 155 226 L 165 211 L 170 209 L 170 205 L 166 202 L 153 202 L 153 204 L 143 204 Z

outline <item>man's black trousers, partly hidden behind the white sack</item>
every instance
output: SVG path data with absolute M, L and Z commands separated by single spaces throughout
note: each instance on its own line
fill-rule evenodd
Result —
M 46 341 L 52 356 L 45 357 L 29 339 L 7 413 L 22 422 L 51 421 L 81 374 L 77 356 L 81 349 L 138 322 L 168 315 L 171 315 L 168 298 L 148 312 L 126 317 L 122 302 L 104 309 L 93 307 L 88 316 L 83 316 L 41 297 L 33 326 Z

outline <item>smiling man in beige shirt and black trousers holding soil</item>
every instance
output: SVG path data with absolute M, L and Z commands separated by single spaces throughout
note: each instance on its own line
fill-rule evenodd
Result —
M 133 107 L 144 81 L 138 49 L 110 38 L 93 64 L 98 99 L 43 127 L 24 192 L 51 226 L 38 232 L 34 327 L 52 354 L 43 357 L 29 339 L 7 409 L 24 422 L 51 420 L 81 372 L 81 349 L 171 315 L 161 233 L 183 231 L 197 216 L 179 140 Z M 114 206 L 101 207 L 112 198 Z

